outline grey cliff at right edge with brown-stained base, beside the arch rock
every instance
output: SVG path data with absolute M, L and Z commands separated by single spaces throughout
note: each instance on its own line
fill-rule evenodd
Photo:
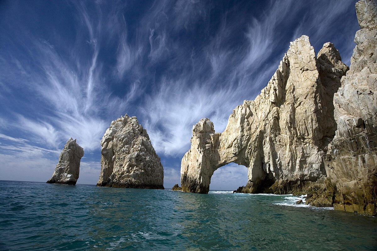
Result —
M 351 66 L 334 95 L 336 135 L 325 158 L 334 208 L 376 215 L 377 195 L 377 1 L 356 3 Z

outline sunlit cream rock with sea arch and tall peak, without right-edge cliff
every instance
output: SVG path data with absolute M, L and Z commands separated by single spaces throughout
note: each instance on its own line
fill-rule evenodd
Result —
M 317 58 L 307 36 L 292 42 L 267 87 L 234 109 L 224 132 L 215 133 L 209 119 L 193 127 L 182 190 L 208 193 L 213 172 L 231 162 L 248 167 L 247 193 L 299 192 L 325 178 L 323 156 L 336 131 L 333 96 L 347 70 L 333 44 Z

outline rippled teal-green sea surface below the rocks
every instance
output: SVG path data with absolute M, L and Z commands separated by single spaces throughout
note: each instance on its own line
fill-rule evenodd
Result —
M 377 250 L 377 218 L 298 199 L 0 181 L 0 250 Z

